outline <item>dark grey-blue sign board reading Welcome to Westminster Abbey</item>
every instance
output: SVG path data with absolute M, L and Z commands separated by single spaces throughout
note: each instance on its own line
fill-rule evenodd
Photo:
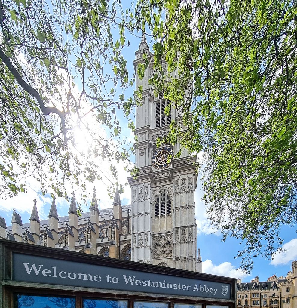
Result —
M 132 265 L 133 263 L 131 263 Z M 13 279 L 157 294 L 231 298 L 231 284 L 13 253 Z

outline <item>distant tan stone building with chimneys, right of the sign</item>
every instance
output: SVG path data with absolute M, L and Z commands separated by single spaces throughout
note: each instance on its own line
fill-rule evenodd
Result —
M 286 277 L 273 275 L 260 282 L 255 277 L 251 282 L 238 279 L 237 308 L 297 308 L 297 261 Z

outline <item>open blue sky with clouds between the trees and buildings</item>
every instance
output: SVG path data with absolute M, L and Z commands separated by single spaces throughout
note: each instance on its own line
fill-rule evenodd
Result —
M 127 70 L 129 72 L 129 77 L 134 74 L 133 60 L 135 58 L 134 51 L 138 49 L 141 34 L 136 37 L 126 33 L 126 39 L 130 40 L 130 47 L 122 51 L 122 55 L 127 59 Z M 150 43 L 149 38 L 147 38 L 148 43 Z M 133 95 L 133 88 L 131 87 L 126 96 Z M 126 136 L 130 142 L 133 142 L 133 134 L 127 128 L 127 119 L 125 119 L 121 114 L 118 114 L 119 120 L 122 127 L 122 135 Z M 132 115 L 133 118 L 133 115 Z M 132 163 L 134 162 L 134 157 L 131 157 Z M 207 162 L 203 161 L 203 164 Z M 118 172 L 120 173 L 119 181 L 121 184 L 126 182 L 126 177 L 129 176 L 128 172 L 123 170 L 123 165 L 118 166 Z M 199 180 L 201 174 L 199 174 Z M 260 280 L 266 280 L 268 277 L 276 274 L 277 276 L 286 276 L 287 272 L 291 270 L 291 262 L 297 259 L 297 236 L 296 227 L 291 228 L 288 226 L 283 226 L 279 230 L 280 236 L 284 238 L 284 248 L 287 252 L 282 253 L 275 257 L 274 261 L 265 260 L 263 257 L 257 257 L 254 260 L 254 269 L 251 275 L 247 275 L 241 272 L 236 272 L 236 268 L 239 267 L 240 260 L 234 259 L 238 251 L 244 248 L 244 245 L 239 245 L 239 240 L 235 238 L 228 238 L 225 242 L 222 242 L 222 236 L 219 232 L 212 234 L 211 227 L 207 221 L 207 216 L 205 212 L 205 205 L 201 201 L 203 196 L 203 191 L 201 189 L 200 181 L 198 180 L 197 190 L 195 192 L 195 210 L 196 210 L 196 220 L 198 225 L 197 232 L 197 243 L 198 248 L 200 248 L 202 260 L 203 260 L 203 272 L 209 274 L 217 274 L 223 276 L 230 276 L 234 278 L 242 278 L 243 281 L 250 281 L 255 276 L 259 276 Z M 112 181 L 112 180 L 110 180 Z M 110 182 L 111 183 L 111 182 Z M 110 184 L 108 183 L 108 184 Z M 46 219 L 47 214 L 50 209 L 51 198 L 49 195 L 42 196 L 39 192 L 39 184 L 34 179 L 29 179 L 29 188 L 27 193 L 19 193 L 19 195 L 13 199 L 0 199 L 0 216 L 4 217 L 6 220 L 6 225 L 10 225 L 12 209 L 15 208 L 18 213 L 22 215 L 23 223 L 29 221 L 30 213 L 33 207 L 33 199 L 37 199 L 37 206 L 39 211 L 40 219 Z M 87 187 L 89 192 L 89 198 L 91 198 L 93 190 L 92 187 L 96 186 L 97 197 L 99 200 L 99 207 L 101 209 L 111 207 L 112 201 L 107 196 L 106 183 L 91 183 Z M 70 193 L 70 192 L 69 192 Z M 130 202 L 131 192 L 129 186 L 126 186 L 125 192 L 121 195 L 122 205 L 128 204 Z M 67 215 L 69 202 L 63 199 L 57 199 L 57 210 L 59 216 Z M 88 211 L 87 206 L 82 206 L 84 211 Z

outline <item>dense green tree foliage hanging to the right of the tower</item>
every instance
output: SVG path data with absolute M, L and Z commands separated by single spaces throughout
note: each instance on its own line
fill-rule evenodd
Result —
M 173 122 L 167 141 L 204 153 L 212 225 L 242 240 L 251 270 L 297 221 L 296 2 L 139 0 L 135 10 L 155 42 L 151 85 L 188 128 Z

